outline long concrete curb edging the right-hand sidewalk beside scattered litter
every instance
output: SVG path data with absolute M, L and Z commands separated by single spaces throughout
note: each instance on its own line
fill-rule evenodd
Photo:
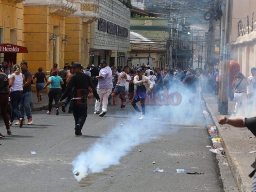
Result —
M 241 166 L 239 165 L 238 161 L 236 161 L 236 158 L 234 156 L 232 156 L 231 153 L 229 153 L 230 150 L 230 147 L 228 145 L 225 144 L 225 141 L 221 135 L 221 132 L 222 132 L 222 127 L 219 125 L 219 122 L 214 114 L 214 112 L 212 111 L 212 109 L 210 108 L 210 106 L 208 105 L 208 103 L 206 102 L 206 99 L 205 97 L 203 96 L 203 99 L 206 103 L 206 107 L 207 107 L 207 110 L 210 114 L 210 117 L 212 119 L 212 121 L 214 122 L 215 126 L 217 126 L 217 130 L 218 130 L 218 134 L 219 134 L 219 138 L 220 138 L 220 141 L 221 141 L 221 144 L 222 144 L 222 147 L 225 151 L 225 154 L 226 154 L 226 158 L 227 158 L 227 161 L 229 163 L 229 166 L 231 168 L 231 171 L 232 171 L 232 174 L 233 174 L 233 177 L 234 177 L 234 180 L 235 180 L 235 183 L 239 189 L 240 192 L 249 192 L 251 191 L 251 189 L 246 189 L 246 184 L 244 183 L 243 181 L 243 177 L 242 177 L 242 168 Z

